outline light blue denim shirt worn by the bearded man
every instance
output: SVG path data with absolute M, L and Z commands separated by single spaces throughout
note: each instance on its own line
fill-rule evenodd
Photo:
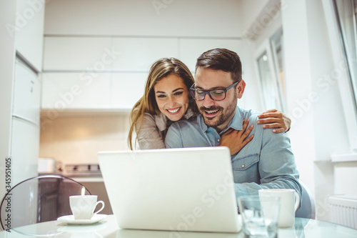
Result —
M 230 128 L 241 130 L 243 119 L 250 119 L 249 126 L 254 124 L 253 140 L 231 156 L 236 197 L 258 194 L 259 189 L 295 189 L 301 197 L 290 139 L 285 133 L 276 134 L 273 129 L 263 129 L 256 124 L 259 114 L 238 106 L 233 119 L 220 134 L 207 127 L 201 115 L 175 122 L 166 134 L 166 148 L 216 147 L 221 134 Z

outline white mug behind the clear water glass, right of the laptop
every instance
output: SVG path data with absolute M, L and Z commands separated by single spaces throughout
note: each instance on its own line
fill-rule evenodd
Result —
M 278 227 L 291 227 L 295 222 L 295 212 L 300 204 L 300 196 L 294 189 L 261 189 L 260 196 L 280 197 Z

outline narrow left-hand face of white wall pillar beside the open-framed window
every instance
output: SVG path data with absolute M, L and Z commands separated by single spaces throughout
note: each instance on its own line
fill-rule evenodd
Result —
M 291 4 L 282 11 L 283 39 L 286 70 L 286 95 L 288 114 L 293 120 L 289 132 L 291 146 L 301 179 L 313 191 L 313 160 L 315 159 L 315 134 L 313 109 L 300 109 L 298 101 L 308 98 L 311 89 L 311 59 L 308 42 L 308 19 L 304 1 Z M 296 21 L 296 19 L 299 19 Z M 296 116 L 297 115 L 297 116 Z M 297 119 L 295 119 L 297 117 Z

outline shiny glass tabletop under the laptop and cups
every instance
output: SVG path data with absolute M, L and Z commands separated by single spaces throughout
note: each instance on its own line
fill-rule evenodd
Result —
M 67 225 L 57 221 L 31 224 L 0 232 L 0 238 L 11 237 L 58 237 L 58 238 L 233 238 L 244 237 L 243 232 L 206 233 L 206 232 L 169 232 L 135 229 L 119 229 L 114 215 L 109 215 L 101 222 L 89 225 Z M 339 224 L 321 222 L 314 219 L 296 218 L 294 227 L 279 229 L 278 237 L 323 237 L 343 238 L 357 237 L 357 229 L 343 227 Z

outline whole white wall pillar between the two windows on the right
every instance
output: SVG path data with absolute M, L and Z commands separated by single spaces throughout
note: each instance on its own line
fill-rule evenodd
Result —
M 282 16 L 288 111 L 295 121 L 291 144 L 301 177 L 315 194 L 316 216 L 328 220 L 326 199 L 335 192 L 328 161 L 349 148 L 322 2 L 286 1 Z

